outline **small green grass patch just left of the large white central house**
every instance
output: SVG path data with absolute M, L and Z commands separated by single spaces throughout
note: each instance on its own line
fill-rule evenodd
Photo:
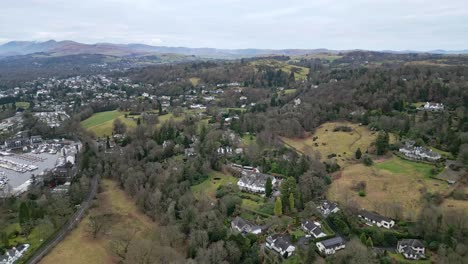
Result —
M 192 193 L 197 199 L 200 199 L 202 195 L 206 195 L 211 200 L 216 201 L 216 190 L 218 187 L 222 185 L 236 185 L 237 180 L 238 179 L 232 175 L 213 171 L 204 182 L 191 187 Z

